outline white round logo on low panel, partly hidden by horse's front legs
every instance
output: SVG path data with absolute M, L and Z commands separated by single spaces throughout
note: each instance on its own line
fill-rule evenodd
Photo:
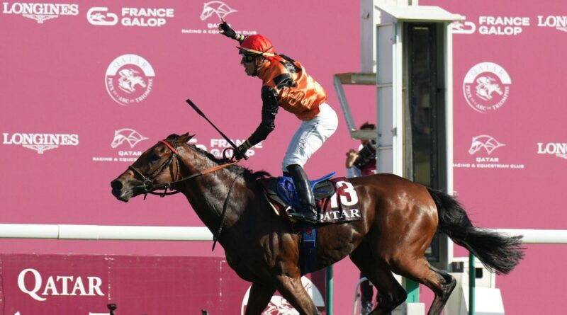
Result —
M 325 307 L 325 302 L 323 302 L 321 293 L 311 280 L 307 277 L 301 277 L 301 284 L 311 299 L 313 299 L 313 302 L 315 302 L 315 307 L 318 309 Z M 249 294 L 250 288 L 246 291 L 244 300 L 242 301 L 242 309 L 240 310 L 240 314 L 242 315 L 245 314 Z M 262 312 L 262 315 L 299 315 L 299 312 L 296 311 L 296 309 L 294 309 L 286 299 L 279 295 L 274 295 L 271 297 L 271 300 L 266 309 Z

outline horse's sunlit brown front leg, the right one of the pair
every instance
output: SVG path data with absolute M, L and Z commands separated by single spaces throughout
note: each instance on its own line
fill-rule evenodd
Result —
M 288 302 L 296 308 L 300 315 L 319 315 L 313 299 L 301 283 L 301 275 L 292 277 L 290 275 L 277 275 L 276 288 Z

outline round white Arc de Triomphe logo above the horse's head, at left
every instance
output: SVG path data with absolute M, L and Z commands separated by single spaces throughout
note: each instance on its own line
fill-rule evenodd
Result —
M 140 103 L 150 95 L 154 77 L 154 69 L 146 59 L 138 55 L 122 55 L 106 69 L 106 91 L 120 105 Z

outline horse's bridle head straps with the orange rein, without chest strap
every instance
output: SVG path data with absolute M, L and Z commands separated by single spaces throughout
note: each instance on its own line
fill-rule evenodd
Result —
M 213 171 L 218 171 L 222 168 L 227 168 L 229 166 L 232 166 L 234 164 L 237 164 L 238 161 L 232 161 L 230 163 L 227 164 L 222 164 L 222 165 L 218 165 L 218 166 L 213 166 L 211 168 L 206 168 L 203 171 L 199 171 L 198 173 L 194 173 L 191 174 L 190 176 L 186 176 L 184 178 L 179 178 L 179 174 L 181 172 L 179 172 L 179 152 L 177 151 L 177 147 L 172 146 L 172 144 L 169 144 L 169 142 L 165 141 L 165 140 L 159 140 L 159 142 L 161 142 L 162 144 L 165 144 L 166 147 L 168 147 L 171 151 L 172 151 L 172 155 L 169 156 L 169 158 L 167 159 L 167 161 L 164 161 L 164 163 L 162 163 L 162 165 L 158 166 L 155 171 L 153 171 L 149 176 L 145 176 L 142 172 L 138 171 L 137 168 L 135 168 L 134 166 L 128 166 L 128 169 L 133 171 L 135 176 L 138 176 L 140 178 L 142 178 L 142 184 L 141 185 L 137 185 L 134 188 L 142 188 L 144 190 L 144 200 L 147 197 L 147 194 L 152 194 L 152 195 L 159 195 L 159 197 L 165 197 L 167 195 L 174 195 L 176 193 L 180 193 L 179 190 L 175 190 L 173 188 L 173 185 L 175 185 L 176 183 L 181 183 L 183 181 L 187 181 L 191 178 L 196 178 L 198 176 L 202 176 L 203 174 L 206 173 L 210 173 Z M 224 152 L 223 152 L 224 155 Z M 163 184 L 159 184 L 159 185 L 155 185 L 154 181 L 155 178 L 159 175 L 159 173 L 162 173 L 162 171 L 169 167 L 170 164 L 176 164 L 176 173 L 174 176 L 174 181 L 171 181 L 169 183 L 163 183 Z M 167 191 L 167 190 L 171 190 L 171 191 Z M 162 193 L 156 193 L 156 190 L 164 190 Z

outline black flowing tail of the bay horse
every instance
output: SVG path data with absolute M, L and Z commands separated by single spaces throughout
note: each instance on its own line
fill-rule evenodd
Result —
M 507 274 L 524 258 L 522 236 L 503 236 L 495 231 L 473 227 L 458 201 L 437 190 L 429 190 L 439 215 L 437 229 L 456 244 L 471 251 L 493 273 Z

